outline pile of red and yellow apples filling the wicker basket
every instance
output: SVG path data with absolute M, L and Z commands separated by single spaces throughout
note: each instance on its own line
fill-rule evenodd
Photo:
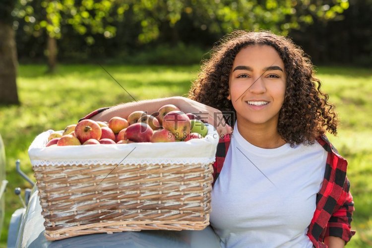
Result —
M 164 105 L 154 114 L 134 111 L 127 119 L 82 120 L 66 126 L 63 133 L 52 132 L 46 146 L 188 141 L 203 138 L 208 132 L 207 126 L 194 114 L 185 114 L 175 105 Z

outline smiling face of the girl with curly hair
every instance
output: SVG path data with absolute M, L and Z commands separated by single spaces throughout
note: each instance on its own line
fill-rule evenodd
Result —
M 243 48 L 229 78 L 231 100 L 238 124 L 278 124 L 284 102 L 286 73 L 276 50 L 267 45 Z

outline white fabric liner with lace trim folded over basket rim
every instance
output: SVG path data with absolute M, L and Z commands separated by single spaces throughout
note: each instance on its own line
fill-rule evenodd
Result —
M 39 134 L 28 154 L 33 166 L 103 165 L 103 164 L 209 164 L 215 161 L 219 135 L 207 124 L 204 138 L 186 142 L 102 144 L 46 147 L 53 130 Z M 60 131 L 62 132 L 62 131 Z

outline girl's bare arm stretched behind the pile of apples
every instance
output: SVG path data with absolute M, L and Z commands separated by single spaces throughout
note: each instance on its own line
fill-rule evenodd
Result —
M 179 96 L 120 104 L 94 116 L 90 116 L 89 119 L 108 122 L 114 116 L 127 118 L 130 113 L 136 110 L 147 111 L 147 113 L 151 115 L 166 104 L 176 105 L 184 113 L 194 113 L 195 115 L 199 116 L 202 121 L 212 124 L 214 127 L 216 127 L 219 134 L 227 134 L 232 132 L 232 128 L 226 124 L 225 120 L 223 119 L 221 111 L 186 97 Z

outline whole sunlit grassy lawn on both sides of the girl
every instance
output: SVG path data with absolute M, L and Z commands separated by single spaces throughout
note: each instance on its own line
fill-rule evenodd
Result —
M 185 95 L 199 66 L 104 66 L 135 100 Z M 15 160 L 31 178 L 27 149 L 34 137 L 47 129 L 63 129 L 100 107 L 133 101 L 99 65 L 60 65 L 55 75 L 45 75 L 43 65 L 20 65 L 18 91 L 21 106 L 0 107 L 0 133 L 6 152 L 6 217 L 0 247 L 6 246 L 11 213 L 21 207 L 13 194 L 17 186 L 30 185 L 15 172 Z M 329 136 L 349 161 L 356 212 L 357 234 L 348 247 L 372 247 L 372 72 L 368 69 L 320 67 L 318 77 L 330 100 L 337 105 L 341 125 L 337 137 Z

